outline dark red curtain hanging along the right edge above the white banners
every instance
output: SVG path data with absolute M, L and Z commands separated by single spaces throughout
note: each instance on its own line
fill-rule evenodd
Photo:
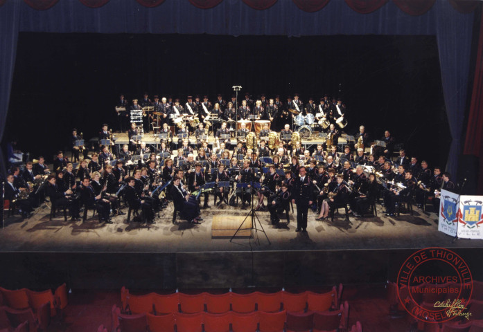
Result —
M 478 172 L 478 194 L 483 194 L 483 20 L 480 24 L 480 38 L 475 65 L 475 80 L 471 95 L 470 114 L 466 129 L 464 154 L 473 154 L 480 160 Z

